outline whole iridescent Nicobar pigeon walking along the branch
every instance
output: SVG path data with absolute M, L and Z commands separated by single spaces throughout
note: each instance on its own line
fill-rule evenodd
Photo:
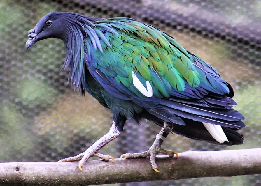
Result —
M 230 84 L 218 71 L 154 26 L 126 17 L 92 18 L 72 12 L 51 12 L 29 31 L 26 48 L 47 38 L 64 41 L 64 69 L 83 94 L 87 91 L 113 111 L 107 134 L 85 152 L 59 162 L 84 162 L 92 157 L 113 157 L 98 151 L 123 130 L 126 120 L 147 119 L 162 127 L 149 150 L 121 157 L 150 156 L 158 172 L 157 153 L 169 132 L 214 144 L 237 145 L 244 119 L 232 109 L 236 102 Z

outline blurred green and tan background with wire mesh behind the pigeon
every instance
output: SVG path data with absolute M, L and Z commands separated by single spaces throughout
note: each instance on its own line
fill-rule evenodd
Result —
M 170 134 L 163 148 L 229 150 L 261 143 L 261 1 L 85 0 L 0 2 L 0 162 L 56 162 L 77 155 L 106 134 L 112 112 L 67 83 L 62 40 L 25 49 L 29 29 L 50 11 L 90 17 L 132 17 L 169 33 L 215 67 L 235 91 L 245 117 L 241 146 L 217 146 Z M 119 157 L 147 150 L 160 127 L 127 123 L 118 139 L 100 150 Z M 226 157 L 224 157 L 226 158 Z M 129 185 L 261 185 L 260 175 L 194 178 Z M 111 186 L 112 186 L 111 185 Z

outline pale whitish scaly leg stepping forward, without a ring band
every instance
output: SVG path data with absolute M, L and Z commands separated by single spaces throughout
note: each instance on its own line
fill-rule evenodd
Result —
M 80 160 L 80 162 L 79 162 L 80 170 L 82 170 L 84 162 L 88 158 L 93 157 L 93 156 L 99 157 L 105 161 L 109 161 L 110 159 L 112 159 L 112 161 L 114 162 L 113 157 L 108 156 L 108 155 L 103 155 L 103 154 L 100 154 L 97 152 L 103 146 L 108 144 L 110 141 L 117 138 L 119 136 L 119 134 L 120 134 L 120 131 L 119 131 L 118 127 L 115 125 L 115 122 L 113 121 L 113 124 L 112 124 L 109 132 L 107 134 L 105 134 L 103 137 L 101 137 L 100 139 L 98 139 L 94 144 L 92 144 L 87 150 L 85 150 L 85 152 L 80 153 L 79 155 L 76 155 L 73 157 L 64 158 L 62 160 L 59 160 L 58 162 L 74 162 L 74 161 Z

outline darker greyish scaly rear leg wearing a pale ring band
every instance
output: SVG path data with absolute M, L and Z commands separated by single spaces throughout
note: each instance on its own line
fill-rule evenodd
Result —
M 156 135 L 156 139 L 153 142 L 152 146 L 149 148 L 149 150 L 142 152 L 142 153 L 133 153 L 133 154 L 122 154 L 120 158 L 125 157 L 128 158 L 140 158 L 140 157 L 147 157 L 150 156 L 150 164 L 152 166 L 152 169 L 155 172 L 159 172 L 158 166 L 156 164 L 156 155 L 158 153 L 169 155 L 170 157 L 173 157 L 174 154 L 176 154 L 176 157 L 178 157 L 178 153 L 171 151 L 171 150 L 165 150 L 161 148 L 161 144 L 169 134 L 169 132 L 172 129 L 172 124 L 164 122 L 164 125 L 162 129 L 160 130 L 159 134 Z

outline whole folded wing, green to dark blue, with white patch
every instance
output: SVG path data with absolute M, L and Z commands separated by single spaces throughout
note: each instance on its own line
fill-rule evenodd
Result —
M 231 109 L 235 102 L 224 96 L 229 85 L 213 67 L 155 27 L 119 19 L 96 23 L 94 31 L 104 37 L 100 50 L 92 40 L 85 41 L 88 68 L 108 92 L 162 118 L 172 114 L 230 127 L 244 118 Z

